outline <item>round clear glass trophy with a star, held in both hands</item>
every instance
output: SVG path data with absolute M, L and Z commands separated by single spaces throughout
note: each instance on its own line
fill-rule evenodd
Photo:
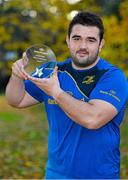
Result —
M 57 65 L 54 52 L 44 44 L 37 44 L 26 50 L 25 72 L 37 78 L 48 78 Z

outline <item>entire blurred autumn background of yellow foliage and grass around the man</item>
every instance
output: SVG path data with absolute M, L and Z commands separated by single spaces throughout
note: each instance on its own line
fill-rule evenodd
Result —
M 48 131 L 44 106 L 14 109 L 5 100 L 5 87 L 12 64 L 33 44 L 49 46 L 58 61 L 69 56 L 67 28 L 79 10 L 103 18 L 106 44 L 101 56 L 128 77 L 127 0 L 0 0 L 0 178 L 44 177 Z M 121 178 L 128 178 L 127 142 L 126 111 L 121 125 Z

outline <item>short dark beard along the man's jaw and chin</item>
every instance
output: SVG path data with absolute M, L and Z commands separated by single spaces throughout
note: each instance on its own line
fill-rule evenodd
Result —
M 79 68 L 84 68 L 84 67 L 88 67 L 88 66 L 92 65 L 93 63 L 95 63 L 97 60 L 98 54 L 99 54 L 99 50 L 97 50 L 97 52 L 94 55 L 88 56 L 88 57 L 78 58 L 78 57 L 74 56 L 73 54 L 71 56 L 72 56 L 72 61 L 75 66 L 77 66 Z

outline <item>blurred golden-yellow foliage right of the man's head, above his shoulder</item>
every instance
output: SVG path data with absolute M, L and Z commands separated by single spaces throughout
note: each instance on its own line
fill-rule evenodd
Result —
M 115 16 L 104 17 L 103 22 L 106 43 L 101 55 L 128 75 L 128 17 L 123 16 L 121 20 Z

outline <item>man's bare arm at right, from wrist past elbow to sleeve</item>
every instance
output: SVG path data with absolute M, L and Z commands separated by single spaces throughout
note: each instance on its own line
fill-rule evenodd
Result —
M 112 120 L 118 113 L 108 102 L 77 100 L 63 90 L 57 90 L 53 96 L 57 104 L 76 123 L 88 129 L 98 129 Z

